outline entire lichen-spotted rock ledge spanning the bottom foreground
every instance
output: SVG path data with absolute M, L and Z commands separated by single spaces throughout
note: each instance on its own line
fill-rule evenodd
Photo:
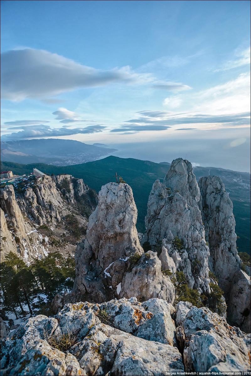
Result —
M 17 376 L 248 371 L 248 344 L 250 335 L 188 302 L 176 312 L 162 299 L 78 302 L 12 332 L 2 343 L 1 368 Z

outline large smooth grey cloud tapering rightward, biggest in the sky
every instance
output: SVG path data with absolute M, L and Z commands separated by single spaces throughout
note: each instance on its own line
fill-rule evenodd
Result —
M 152 81 L 148 74 L 137 74 L 130 67 L 102 71 L 44 50 L 12 50 L 1 56 L 1 98 L 12 101 L 44 100 L 47 96 L 76 88 L 113 82 L 139 84 Z

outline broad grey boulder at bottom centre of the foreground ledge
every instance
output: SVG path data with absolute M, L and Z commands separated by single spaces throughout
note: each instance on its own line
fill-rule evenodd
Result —
M 165 375 L 184 371 L 175 347 L 147 341 L 105 324 L 93 327 L 71 352 L 87 374 Z

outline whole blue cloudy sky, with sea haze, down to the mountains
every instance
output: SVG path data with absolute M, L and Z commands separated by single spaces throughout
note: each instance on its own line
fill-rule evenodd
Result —
M 250 171 L 249 1 L 8 0 L 1 18 L 2 141 Z

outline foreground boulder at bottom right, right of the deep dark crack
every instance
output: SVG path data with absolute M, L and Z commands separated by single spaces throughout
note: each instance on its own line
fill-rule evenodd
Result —
M 176 306 L 184 333 L 184 365 L 186 371 L 231 372 L 250 368 L 250 352 L 245 334 L 231 327 L 210 309 L 191 307 L 187 302 Z

